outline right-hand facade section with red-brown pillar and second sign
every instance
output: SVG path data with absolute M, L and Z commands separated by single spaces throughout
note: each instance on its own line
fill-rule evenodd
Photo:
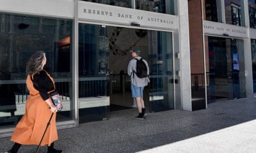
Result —
M 252 97 L 255 1 L 189 1 L 188 6 L 192 100 L 200 98 L 204 87 L 207 104 Z M 204 106 L 200 101 L 197 104 Z

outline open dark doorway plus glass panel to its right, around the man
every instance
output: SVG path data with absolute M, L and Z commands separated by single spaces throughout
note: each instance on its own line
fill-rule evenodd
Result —
M 136 107 L 131 98 L 127 65 L 130 50 L 140 49 L 140 56 L 150 68 L 150 84 L 145 87 L 147 111 L 174 109 L 172 35 L 169 32 L 107 27 L 109 35 L 110 111 Z

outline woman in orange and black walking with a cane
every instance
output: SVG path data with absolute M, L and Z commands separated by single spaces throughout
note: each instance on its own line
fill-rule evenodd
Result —
M 45 127 L 53 113 L 52 120 L 41 146 L 48 145 L 47 152 L 62 152 L 53 148 L 53 142 L 58 140 L 56 127 L 57 108 L 51 100 L 50 93 L 55 91 L 55 82 L 43 70 L 46 64 L 46 55 L 38 51 L 32 55 L 27 64 L 27 88 L 29 96 L 26 101 L 26 111 L 17 124 L 11 141 L 15 142 L 8 152 L 17 152 L 21 145 L 38 145 Z

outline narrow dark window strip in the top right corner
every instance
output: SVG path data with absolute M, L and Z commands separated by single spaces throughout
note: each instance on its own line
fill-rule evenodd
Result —
M 250 28 L 256 28 L 256 1 L 248 0 Z

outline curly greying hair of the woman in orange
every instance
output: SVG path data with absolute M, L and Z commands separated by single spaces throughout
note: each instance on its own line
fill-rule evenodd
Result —
M 42 69 L 42 61 L 45 59 L 45 52 L 42 50 L 37 51 L 34 53 L 31 58 L 29 58 L 27 67 L 26 67 L 26 72 L 28 75 L 40 72 Z

